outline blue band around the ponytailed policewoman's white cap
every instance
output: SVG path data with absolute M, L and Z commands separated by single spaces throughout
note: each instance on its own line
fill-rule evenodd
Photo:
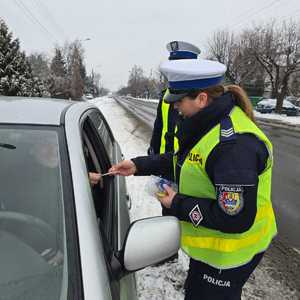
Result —
M 223 76 L 186 81 L 169 81 L 169 88 L 174 90 L 203 89 L 210 86 L 218 85 L 222 82 L 222 80 Z

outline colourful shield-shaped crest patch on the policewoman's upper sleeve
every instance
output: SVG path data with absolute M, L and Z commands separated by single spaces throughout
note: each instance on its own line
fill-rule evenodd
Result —
M 240 185 L 220 185 L 218 203 L 221 209 L 230 216 L 237 215 L 244 207 L 244 189 Z

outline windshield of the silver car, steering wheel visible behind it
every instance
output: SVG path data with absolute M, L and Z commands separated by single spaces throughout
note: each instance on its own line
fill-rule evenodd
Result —
M 67 253 L 58 134 L 0 128 L 1 299 L 62 299 Z

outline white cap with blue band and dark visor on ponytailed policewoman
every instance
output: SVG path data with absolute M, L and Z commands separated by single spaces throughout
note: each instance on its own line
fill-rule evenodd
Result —
M 192 90 L 205 89 L 220 84 L 226 66 L 206 59 L 170 60 L 160 65 L 168 80 L 169 94 L 166 102 L 176 102 Z

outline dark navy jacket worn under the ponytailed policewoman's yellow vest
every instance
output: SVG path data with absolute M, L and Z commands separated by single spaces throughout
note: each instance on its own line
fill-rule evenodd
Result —
M 234 105 L 233 96 L 226 93 L 202 111 L 182 121 L 177 133 L 178 165 L 181 165 L 201 137 L 230 113 Z M 206 172 L 216 188 L 216 199 L 221 192 L 220 187 L 239 186 L 243 207 L 232 215 L 222 209 L 219 201 L 177 193 L 172 202 L 171 213 L 180 220 L 191 222 L 189 214 L 199 205 L 203 215 L 202 226 L 225 233 L 247 231 L 256 215 L 258 176 L 265 169 L 267 159 L 266 146 L 252 134 L 237 134 L 234 141 L 219 143 L 206 162 Z M 164 176 L 173 168 L 172 154 L 137 157 L 133 161 L 137 167 L 136 175 Z M 176 173 L 180 174 L 179 167 Z

